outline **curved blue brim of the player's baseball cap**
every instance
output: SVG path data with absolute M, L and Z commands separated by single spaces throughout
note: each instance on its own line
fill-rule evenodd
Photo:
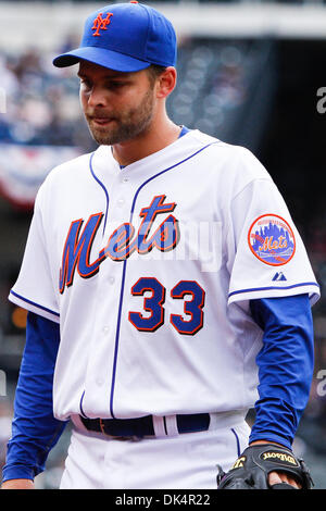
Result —
M 150 62 L 145 62 L 134 59 L 134 57 L 125 55 L 124 53 L 117 53 L 116 51 L 98 47 L 77 48 L 67 53 L 62 53 L 53 59 L 53 65 L 57 67 L 67 67 L 77 64 L 80 60 L 86 60 L 93 64 L 125 73 L 141 71 L 151 65 Z

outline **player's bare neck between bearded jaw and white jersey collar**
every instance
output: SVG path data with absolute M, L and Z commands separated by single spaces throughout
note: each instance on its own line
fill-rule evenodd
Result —
M 133 140 L 114 145 L 113 157 L 120 165 L 130 165 L 170 146 L 177 140 L 179 134 L 180 127 L 164 116 L 160 122 L 152 123 L 146 134 L 141 134 Z

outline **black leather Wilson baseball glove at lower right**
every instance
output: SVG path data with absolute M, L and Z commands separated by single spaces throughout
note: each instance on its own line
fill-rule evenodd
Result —
M 268 484 L 271 472 L 284 472 L 296 479 L 301 489 L 311 489 L 313 481 L 302 459 L 275 444 L 248 447 L 231 470 L 223 472 L 217 465 L 217 489 L 296 489 L 287 483 Z

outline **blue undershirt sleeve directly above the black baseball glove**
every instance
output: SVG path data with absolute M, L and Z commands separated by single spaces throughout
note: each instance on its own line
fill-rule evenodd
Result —
M 268 440 L 291 448 L 314 369 L 309 296 L 251 300 L 250 309 L 264 334 L 256 357 L 259 399 L 249 441 Z

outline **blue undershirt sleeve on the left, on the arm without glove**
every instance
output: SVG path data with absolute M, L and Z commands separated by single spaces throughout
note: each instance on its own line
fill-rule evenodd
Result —
M 42 472 L 66 425 L 53 416 L 52 384 L 59 344 L 59 324 L 29 312 L 3 482 L 34 479 Z

